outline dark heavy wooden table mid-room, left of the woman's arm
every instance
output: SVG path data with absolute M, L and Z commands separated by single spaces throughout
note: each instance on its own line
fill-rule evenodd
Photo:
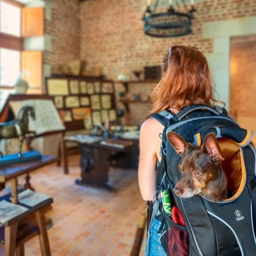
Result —
M 89 184 L 115 191 L 115 188 L 108 185 L 108 171 L 111 163 L 115 161 L 123 168 L 137 167 L 138 141 L 129 141 L 131 145 L 124 148 L 102 145 L 100 142 L 79 143 L 81 179 L 76 180 L 76 184 Z

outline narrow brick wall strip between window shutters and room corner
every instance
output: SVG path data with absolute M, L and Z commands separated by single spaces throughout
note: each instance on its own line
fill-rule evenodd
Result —
M 44 64 L 66 64 L 80 58 L 80 4 L 78 0 L 53 0 L 51 20 L 45 34 L 51 36 L 52 51 L 44 52 Z

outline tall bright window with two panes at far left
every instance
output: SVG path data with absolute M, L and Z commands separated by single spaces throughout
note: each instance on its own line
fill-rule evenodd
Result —
M 0 0 L 0 111 L 20 75 L 21 6 Z

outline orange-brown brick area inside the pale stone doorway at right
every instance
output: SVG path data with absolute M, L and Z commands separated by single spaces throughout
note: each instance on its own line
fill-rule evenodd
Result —
M 256 131 L 256 36 L 231 38 L 230 46 L 230 110 Z

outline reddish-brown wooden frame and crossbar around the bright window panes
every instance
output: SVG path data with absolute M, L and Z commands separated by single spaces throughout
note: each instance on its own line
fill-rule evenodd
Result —
M 24 39 L 22 37 L 22 9 L 23 5 L 21 3 L 14 2 L 12 0 L 0 0 L 0 2 L 6 2 L 13 6 L 17 6 L 20 8 L 20 31 L 21 36 L 9 35 L 3 32 L 0 32 L 0 48 L 12 49 L 20 52 L 20 70 L 21 70 L 21 52 L 23 51 L 23 42 Z M 14 86 L 8 86 L 5 84 L 0 84 L 0 89 L 14 89 Z

